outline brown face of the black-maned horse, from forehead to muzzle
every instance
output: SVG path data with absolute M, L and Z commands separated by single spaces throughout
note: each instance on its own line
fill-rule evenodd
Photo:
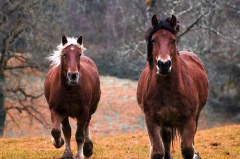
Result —
M 160 29 L 152 36 L 153 57 L 157 74 L 168 75 L 172 70 L 172 58 L 176 53 L 176 37 L 167 30 Z

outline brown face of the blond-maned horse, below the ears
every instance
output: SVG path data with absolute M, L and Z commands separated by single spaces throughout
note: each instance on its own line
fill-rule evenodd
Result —
M 62 52 L 64 73 L 70 85 L 78 84 L 81 55 L 82 50 L 75 45 L 66 47 Z

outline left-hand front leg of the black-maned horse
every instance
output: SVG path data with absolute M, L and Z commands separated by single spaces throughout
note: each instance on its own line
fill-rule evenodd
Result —
M 145 119 L 146 119 L 149 140 L 151 143 L 151 150 L 150 150 L 151 159 L 163 159 L 165 150 L 164 150 L 162 138 L 160 136 L 160 127 L 156 123 L 153 117 L 145 116 Z

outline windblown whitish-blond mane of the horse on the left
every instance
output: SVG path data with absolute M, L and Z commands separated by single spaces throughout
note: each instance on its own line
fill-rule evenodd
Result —
M 82 51 L 86 50 L 86 48 L 83 47 L 83 44 L 80 45 L 77 42 L 77 38 L 74 37 L 67 37 L 67 43 L 65 45 L 62 45 L 62 43 L 60 43 L 57 47 L 56 50 L 53 51 L 53 54 L 50 55 L 49 57 L 47 57 L 47 59 L 49 61 L 52 61 L 52 65 L 55 66 L 59 66 L 61 64 L 61 55 L 62 55 L 62 51 L 63 49 L 65 49 L 66 47 L 70 46 L 70 45 L 75 45 L 77 46 L 79 49 L 81 49 Z

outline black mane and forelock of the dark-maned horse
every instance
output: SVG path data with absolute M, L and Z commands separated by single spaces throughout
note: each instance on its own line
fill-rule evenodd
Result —
M 152 35 L 157 32 L 159 29 L 164 29 L 170 31 L 172 34 L 177 36 L 177 33 L 180 29 L 180 22 L 177 21 L 176 30 L 170 25 L 170 17 L 166 19 L 160 19 L 158 24 L 154 27 L 149 27 L 148 30 L 145 32 L 145 40 L 147 42 L 147 61 L 149 62 L 150 66 L 153 63 L 153 55 L 152 55 Z

